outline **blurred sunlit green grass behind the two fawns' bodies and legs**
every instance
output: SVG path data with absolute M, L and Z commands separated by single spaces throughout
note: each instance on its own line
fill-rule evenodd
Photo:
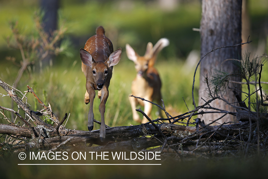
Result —
M 133 62 L 124 56 L 122 56 L 120 63 L 114 66 L 113 77 L 110 82 L 109 98 L 105 112 L 105 123 L 109 126 L 138 124 L 132 120 L 131 106 L 128 101 L 128 96 L 131 94 L 131 82 L 135 78 L 136 72 Z M 162 79 L 162 96 L 167 111 L 173 116 L 186 112 L 187 107 L 182 97 L 184 97 L 191 110 L 193 73 L 185 74 L 183 63 L 179 60 L 157 62 L 156 68 Z M 5 63 L 0 67 L 0 70 L 0 78 L 12 85 L 17 69 L 13 65 Z M 196 81 L 196 84 L 198 85 L 198 81 Z M 62 119 L 66 112 L 70 113 L 66 127 L 87 130 L 89 105 L 84 103 L 85 76 L 81 71 L 80 60 L 47 67 L 42 72 L 34 72 L 31 78 L 25 72 L 18 85 L 18 90 L 26 91 L 27 85 L 33 87 L 41 100 L 44 100 L 43 90 L 46 91 L 46 101 L 43 102 L 46 105 L 50 103 L 53 112 L 59 119 Z M 3 89 L 0 89 L 0 93 L 5 94 Z M 27 94 L 27 97 L 27 102 L 31 105 L 30 108 L 35 110 L 36 99 L 32 94 Z M 1 106 L 10 107 L 11 98 L 0 97 L 0 103 Z M 99 103 L 100 100 L 96 97 L 93 109 L 96 120 L 100 120 Z M 37 109 L 41 110 L 42 107 L 37 104 Z M 15 110 L 17 109 L 15 108 Z M 155 106 L 152 111 L 152 119 L 157 119 L 156 111 L 157 107 Z M 20 111 L 20 114 L 24 116 L 23 111 Z M 10 114 L 6 115 L 10 116 Z M 0 123 L 6 123 L 6 121 L 0 119 Z M 99 129 L 99 125 L 96 124 L 94 129 Z

